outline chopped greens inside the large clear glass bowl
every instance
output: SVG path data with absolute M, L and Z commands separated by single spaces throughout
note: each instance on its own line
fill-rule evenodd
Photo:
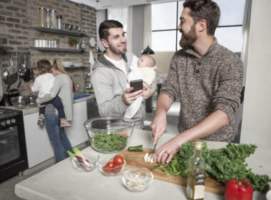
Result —
M 95 133 L 91 140 L 92 145 L 99 151 L 121 151 L 127 144 L 128 136 L 122 134 Z

